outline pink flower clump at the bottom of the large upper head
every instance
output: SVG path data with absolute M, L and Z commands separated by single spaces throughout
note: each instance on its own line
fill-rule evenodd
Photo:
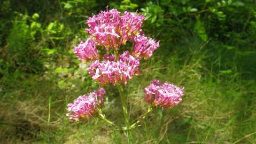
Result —
M 92 79 L 99 82 L 100 85 L 112 83 L 113 85 L 122 82 L 127 84 L 128 79 L 139 74 L 139 60 L 125 52 L 119 55 L 117 61 L 112 60 L 113 56 L 102 62 L 95 61 L 89 64 L 89 74 Z

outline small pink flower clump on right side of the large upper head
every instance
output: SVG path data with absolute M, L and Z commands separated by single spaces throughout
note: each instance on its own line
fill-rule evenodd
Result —
M 159 47 L 159 42 L 156 42 L 154 39 L 138 35 L 134 37 L 135 46 L 133 54 L 136 58 L 144 57 L 144 59 L 149 59 L 154 50 Z

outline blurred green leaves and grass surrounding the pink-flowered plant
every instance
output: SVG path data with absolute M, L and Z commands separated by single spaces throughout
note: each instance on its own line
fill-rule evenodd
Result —
M 160 48 L 129 83 L 131 119 L 146 111 L 152 78 L 185 87 L 172 110 L 157 110 L 133 130 L 136 143 L 256 143 L 254 0 L 0 1 L 0 143 L 126 143 L 96 118 L 73 123 L 68 102 L 98 87 L 73 54 L 92 13 L 145 14 L 143 30 Z M 123 124 L 118 91 L 104 113 Z

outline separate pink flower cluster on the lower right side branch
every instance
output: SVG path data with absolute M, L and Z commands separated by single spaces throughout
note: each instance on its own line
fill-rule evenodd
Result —
M 182 100 L 183 87 L 169 83 L 160 83 L 153 80 L 152 83 L 145 88 L 145 100 L 152 103 L 153 106 L 162 108 L 173 108 Z

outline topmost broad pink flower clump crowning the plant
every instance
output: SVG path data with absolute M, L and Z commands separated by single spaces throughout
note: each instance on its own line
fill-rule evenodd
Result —
M 143 15 L 137 13 L 125 12 L 120 15 L 116 9 L 101 11 L 87 20 L 89 28 L 86 31 L 106 50 L 118 50 L 128 39 L 142 33 L 144 19 Z

